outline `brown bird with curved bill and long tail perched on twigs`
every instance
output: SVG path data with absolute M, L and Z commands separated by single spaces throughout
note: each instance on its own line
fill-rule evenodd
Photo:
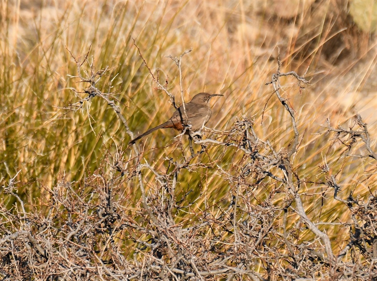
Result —
M 212 111 L 210 104 L 208 101 L 211 97 L 215 96 L 223 96 L 220 94 L 208 94 L 208 93 L 199 93 L 192 98 L 189 103 L 185 104 L 186 114 L 184 112 L 183 106 L 178 107 L 178 109 L 174 112 L 173 116 L 152 129 L 149 129 L 145 133 L 141 134 L 140 136 L 135 137 L 130 144 L 135 143 L 138 139 L 146 136 L 147 134 L 152 133 L 155 130 L 161 128 L 175 128 L 176 130 L 183 131 L 184 124 L 191 125 L 190 131 L 195 132 L 200 130 L 211 118 Z M 186 117 L 187 115 L 187 117 Z

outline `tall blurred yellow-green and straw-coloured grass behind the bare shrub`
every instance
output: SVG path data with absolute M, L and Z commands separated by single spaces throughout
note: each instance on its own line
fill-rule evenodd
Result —
M 113 173 L 105 160 L 126 150 L 130 140 L 103 100 L 92 99 L 78 112 L 59 108 L 85 97 L 75 97 L 70 89 L 82 91 L 87 86 L 67 76 L 77 75 L 69 51 L 83 57 L 91 45 L 89 57 L 96 68 L 111 68 L 97 86 L 106 92 L 113 80 L 115 98 L 134 133 L 170 117 L 173 107 L 169 98 L 155 88 L 132 37 L 152 71 L 159 68 L 161 80 L 168 79 L 168 88 L 178 101 L 178 69 L 165 56 L 179 56 L 193 48 L 182 62 L 186 101 L 202 91 L 224 94 L 224 99 L 213 103 L 207 127 L 229 130 L 241 116 L 252 117 L 256 133 L 276 151 L 287 147 L 293 138 L 290 116 L 279 100 L 270 98 L 273 89 L 265 85 L 276 71 L 279 46 L 282 72 L 303 74 L 308 69 L 307 77 L 313 79 L 305 89 L 299 89 L 289 77 L 281 81 L 282 95 L 296 112 L 300 132 L 293 166 L 306 181 L 300 193 L 307 215 L 314 222 L 349 222 L 347 206 L 332 198 L 333 189 L 320 184 L 324 176 L 319 165 L 325 158 L 332 173 L 339 172 L 339 196 L 346 198 L 354 192 L 366 199 L 371 192 L 375 194 L 375 160 L 344 157 L 341 152 L 345 148 L 331 141 L 331 134 L 318 134 L 325 131 L 320 124 L 327 117 L 334 126 L 344 125 L 358 112 L 368 123 L 371 147 L 375 148 L 374 42 L 353 24 L 345 2 L 316 1 L 288 19 L 279 17 L 267 0 L 27 3 L 3 2 L 0 15 L 0 178 L 6 183 L 20 170 L 17 194 L 21 199 L 47 208 L 44 200 L 48 201 L 49 190 L 63 175 L 65 181 L 75 181 L 81 189 L 88 175 Z M 83 67 L 89 69 L 87 64 Z M 155 171 L 171 171 L 175 162 L 182 160 L 181 144 L 173 136 L 173 131 L 160 130 L 141 141 L 141 161 Z M 183 145 L 188 156 L 188 142 Z M 353 153 L 364 151 L 360 145 Z M 135 157 L 131 150 L 125 151 L 125 156 Z M 200 217 L 200 210 L 210 208 L 216 214 L 229 204 L 237 187 L 221 177 L 218 169 L 233 173 L 245 161 L 241 151 L 219 147 L 210 147 L 193 159 L 192 163 L 213 169 L 181 171 L 176 199 L 183 201 L 182 209 L 176 210 L 176 223 L 190 225 L 188 213 Z M 281 171 L 276 173 L 282 177 Z M 153 197 L 159 192 L 156 177 L 150 170 L 144 171 L 143 177 Z M 124 183 L 119 192 L 125 212 L 143 213 L 136 179 Z M 252 192 L 255 204 L 261 204 L 270 190 Z M 8 208 L 15 204 L 13 196 L 1 193 L 0 197 Z M 282 206 L 285 200 L 282 194 L 271 201 Z M 288 225 L 297 221 L 295 214 L 288 217 Z M 343 227 L 320 226 L 331 238 L 334 254 L 349 238 L 342 235 Z M 299 239 L 313 236 L 303 230 Z M 131 256 L 132 250 L 127 254 Z

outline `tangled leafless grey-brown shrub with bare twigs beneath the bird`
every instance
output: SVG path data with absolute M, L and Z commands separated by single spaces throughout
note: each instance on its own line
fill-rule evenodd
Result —
M 81 66 L 87 57 L 83 62 L 74 57 L 76 78 L 89 84 L 76 94 L 86 97 L 66 109 L 78 111 L 93 98 L 104 100 L 133 138 L 112 93 L 97 88 L 109 69 L 96 71 L 91 64 L 85 76 Z M 28 202 L 28 212 L 15 193 L 16 174 L 3 186 L 17 201 L 12 210 L 1 207 L 3 279 L 375 280 L 376 195 L 338 196 L 337 177 L 347 165 L 345 160 L 335 174 L 323 159 L 317 182 L 302 177 L 305 168 L 295 165 L 302 133 L 290 102 L 280 94 L 280 78 L 293 76 L 299 89 L 308 81 L 293 71 L 280 73 L 278 64 L 268 84 L 290 116 L 288 127 L 293 134 L 285 148 L 276 150 L 268 139 L 258 136 L 250 118 L 240 118 L 229 131 L 216 131 L 205 139 L 194 137 L 201 148 L 187 156 L 181 145 L 181 157 L 169 159 L 162 164 L 164 168 L 156 169 L 159 160 L 143 159 L 144 151 L 133 144 L 109 153 L 100 169 L 81 183 L 63 177 L 53 189 L 43 188 L 41 198 Z M 166 86 L 153 79 L 158 89 L 169 94 Z M 334 133 L 334 142 L 346 147 L 343 159 L 377 159 L 360 116 L 349 129 L 333 128 L 329 122 L 325 128 Z M 367 154 L 354 154 L 359 142 Z M 214 159 L 216 151 L 223 153 Z M 234 159 L 236 163 L 227 164 L 228 151 L 240 156 Z M 198 177 L 190 177 L 190 189 L 184 190 L 187 172 Z M 197 179 L 205 181 L 207 188 L 219 185 L 211 189 L 218 193 L 208 197 Z M 333 222 L 308 216 L 302 192 L 308 184 L 330 188 L 334 199 L 346 208 L 346 219 Z M 228 192 L 221 195 L 224 186 Z M 339 227 L 347 241 L 333 245 L 321 230 L 324 225 Z

